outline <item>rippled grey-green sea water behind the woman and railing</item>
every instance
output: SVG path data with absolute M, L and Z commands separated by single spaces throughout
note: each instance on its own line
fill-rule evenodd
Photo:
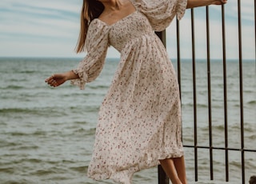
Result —
M 94 143 L 102 98 L 110 85 L 116 59 L 108 59 L 96 81 L 79 90 L 67 82 L 58 88 L 44 79 L 77 66 L 78 58 L 0 59 L 0 183 L 94 182 L 86 169 Z M 174 62 L 176 67 L 176 63 Z M 182 62 L 182 122 L 184 145 L 194 144 L 191 62 Z M 238 61 L 227 62 L 228 142 L 240 148 Z M 196 62 L 198 146 L 208 146 L 206 62 Z M 211 62 L 213 146 L 225 146 L 222 62 Z M 245 148 L 256 150 L 255 62 L 243 62 Z M 194 182 L 194 149 L 185 148 L 186 173 Z M 246 182 L 256 174 L 256 153 L 246 152 Z M 225 183 L 225 152 L 214 150 L 214 181 L 210 181 L 209 150 L 198 150 L 198 182 Z M 241 183 L 241 153 L 229 151 L 230 183 Z M 158 183 L 157 168 L 134 174 L 134 183 Z

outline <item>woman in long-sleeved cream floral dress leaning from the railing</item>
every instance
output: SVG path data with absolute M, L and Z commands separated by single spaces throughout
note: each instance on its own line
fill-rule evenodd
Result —
M 50 86 L 67 80 L 84 89 L 100 74 L 108 46 L 121 53 L 99 112 L 88 176 L 130 183 L 138 170 L 162 165 L 173 183 L 186 183 L 181 106 L 174 68 L 154 34 L 181 19 L 186 8 L 226 0 L 84 0 L 78 69 L 54 74 Z

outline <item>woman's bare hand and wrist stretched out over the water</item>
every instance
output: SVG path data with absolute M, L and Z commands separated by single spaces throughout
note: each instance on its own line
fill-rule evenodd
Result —
M 50 86 L 57 87 L 68 80 L 73 80 L 77 78 L 79 78 L 78 74 L 74 74 L 74 72 L 71 70 L 65 73 L 53 74 L 52 76 L 50 76 L 50 78 L 46 78 L 45 82 L 47 82 Z

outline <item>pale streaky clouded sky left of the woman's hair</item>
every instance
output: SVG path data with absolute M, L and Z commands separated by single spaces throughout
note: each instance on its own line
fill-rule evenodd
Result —
M 0 4 L 0 55 L 74 55 L 81 9 L 78 0 L 2 0 Z

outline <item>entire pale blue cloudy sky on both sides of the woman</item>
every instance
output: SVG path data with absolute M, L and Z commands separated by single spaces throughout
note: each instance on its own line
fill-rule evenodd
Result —
M 1 0 L 0 57 L 84 57 L 76 54 L 82 0 Z M 226 58 L 238 58 L 238 1 L 225 5 Z M 241 0 L 242 58 L 255 59 L 254 0 Z M 222 58 L 222 6 L 210 6 L 210 57 Z M 179 22 L 182 58 L 191 58 L 191 10 Z M 206 58 L 206 7 L 194 8 L 195 54 Z M 176 20 L 166 29 L 166 48 L 177 57 Z M 110 47 L 108 58 L 118 58 Z

